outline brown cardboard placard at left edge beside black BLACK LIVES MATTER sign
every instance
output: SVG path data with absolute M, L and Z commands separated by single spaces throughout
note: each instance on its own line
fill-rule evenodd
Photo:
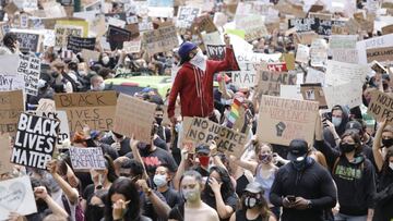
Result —
M 22 90 L 0 91 L 0 132 L 15 136 L 17 121 L 24 111 Z

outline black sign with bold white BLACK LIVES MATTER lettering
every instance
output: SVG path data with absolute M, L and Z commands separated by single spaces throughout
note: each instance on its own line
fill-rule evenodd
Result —
M 21 113 L 11 162 L 46 169 L 52 159 L 59 126 L 57 120 Z

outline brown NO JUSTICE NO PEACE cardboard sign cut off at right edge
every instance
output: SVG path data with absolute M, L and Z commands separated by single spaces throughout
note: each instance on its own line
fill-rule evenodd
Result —
M 389 125 L 393 124 L 393 108 L 391 103 L 393 97 L 379 90 L 371 91 L 371 101 L 367 112 L 371 114 L 378 122 L 386 120 Z

